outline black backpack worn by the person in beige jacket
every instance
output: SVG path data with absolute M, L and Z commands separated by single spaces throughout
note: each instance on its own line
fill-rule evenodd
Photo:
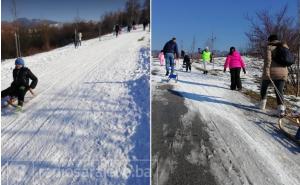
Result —
M 293 53 L 288 48 L 283 47 L 281 44 L 272 52 L 272 59 L 283 67 L 289 67 L 295 64 Z

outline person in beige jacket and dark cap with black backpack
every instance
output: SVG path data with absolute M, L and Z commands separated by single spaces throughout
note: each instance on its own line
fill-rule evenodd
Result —
M 258 104 L 258 108 L 264 110 L 267 103 L 267 90 L 271 80 L 274 82 L 275 87 L 278 89 L 275 90 L 276 99 L 277 99 L 277 114 L 278 116 L 283 116 L 285 114 L 285 106 L 284 106 L 284 96 L 283 89 L 285 85 L 285 81 L 288 77 L 288 69 L 286 66 L 282 66 L 278 62 L 276 62 L 276 58 L 274 57 L 275 49 L 278 47 L 288 48 L 286 44 L 283 44 L 278 40 L 277 35 L 270 35 L 268 37 L 268 45 L 266 51 L 266 57 L 264 60 L 263 73 L 262 73 L 262 83 L 261 83 L 261 101 Z

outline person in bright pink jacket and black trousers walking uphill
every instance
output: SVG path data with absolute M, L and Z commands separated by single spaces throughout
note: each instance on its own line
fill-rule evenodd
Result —
M 243 72 L 246 74 L 245 63 L 241 57 L 241 55 L 235 50 L 234 47 L 230 48 L 230 52 L 227 55 L 226 62 L 224 64 L 224 72 L 226 72 L 226 68 L 229 67 L 230 75 L 231 75 L 231 90 L 238 91 L 242 90 L 242 82 L 240 78 L 241 68 Z

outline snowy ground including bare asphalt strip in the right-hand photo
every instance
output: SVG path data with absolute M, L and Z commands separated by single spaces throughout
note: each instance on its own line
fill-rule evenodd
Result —
M 262 62 L 244 59 L 248 73 L 241 74 L 243 87 L 259 92 L 254 79 L 261 75 Z M 208 75 L 199 63 L 192 64 L 191 73 L 177 65 L 177 83 L 166 82 L 165 66 L 152 62 L 152 120 L 159 121 L 165 112 L 161 123 L 152 122 L 152 131 L 162 130 L 152 136 L 159 138 L 152 141 L 159 145 L 152 149 L 154 184 L 300 184 L 299 146 L 280 132 L 277 118 L 230 90 L 225 58 L 215 62 Z M 155 111 L 157 107 L 162 108 Z

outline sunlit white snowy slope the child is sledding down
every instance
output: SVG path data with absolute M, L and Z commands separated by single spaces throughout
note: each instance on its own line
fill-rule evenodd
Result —
M 149 32 L 24 59 L 37 96 L 24 113 L 1 112 L 2 183 L 139 184 L 132 160 L 149 159 Z M 2 89 L 12 66 L 2 63 Z

